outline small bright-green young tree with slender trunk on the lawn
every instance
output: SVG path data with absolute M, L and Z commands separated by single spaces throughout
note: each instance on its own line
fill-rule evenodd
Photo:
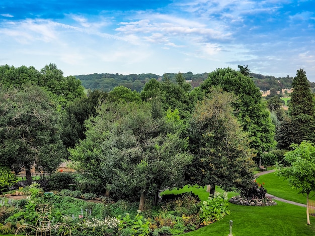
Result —
M 311 191 L 315 191 L 315 147 L 312 143 L 303 141 L 300 145 L 292 144 L 292 151 L 284 154 L 285 161 L 290 166 L 278 166 L 277 174 L 283 176 L 289 185 L 298 189 L 299 193 L 306 194 L 306 217 L 307 224 L 310 224 L 308 214 L 308 199 Z

